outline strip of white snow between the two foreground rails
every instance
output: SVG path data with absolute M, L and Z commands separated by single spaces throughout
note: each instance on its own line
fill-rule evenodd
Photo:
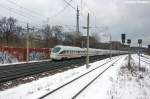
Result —
M 112 63 L 114 63 L 118 58 L 101 66 L 100 68 L 94 70 L 93 72 L 83 76 L 79 80 L 76 80 L 69 85 L 59 89 L 55 93 L 45 97 L 44 99 L 72 99 L 72 97 L 78 93 L 84 86 L 86 86 L 90 81 L 92 81 L 97 75 L 102 73 L 106 68 L 108 68 Z M 91 97 L 92 98 L 92 97 Z M 88 97 L 88 99 L 91 99 Z

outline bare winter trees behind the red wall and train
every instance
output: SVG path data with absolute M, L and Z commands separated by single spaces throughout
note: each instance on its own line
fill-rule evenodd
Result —
M 0 44 L 1 46 L 26 47 L 27 29 L 18 24 L 13 17 L 0 19 Z M 90 47 L 98 47 L 98 38 L 90 36 Z M 51 48 L 55 45 L 86 46 L 86 37 L 75 31 L 65 32 L 60 25 L 44 25 L 29 31 L 29 45 L 31 48 Z

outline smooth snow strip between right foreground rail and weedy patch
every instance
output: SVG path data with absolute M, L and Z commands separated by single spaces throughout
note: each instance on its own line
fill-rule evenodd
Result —
M 101 75 L 93 84 L 91 84 L 77 99 L 107 99 L 109 95 L 108 89 L 112 82 L 117 80 L 117 73 L 122 64 L 124 64 L 125 57 L 121 58 L 104 74 Z M 111 99 L 111 98 L 109 98 Z

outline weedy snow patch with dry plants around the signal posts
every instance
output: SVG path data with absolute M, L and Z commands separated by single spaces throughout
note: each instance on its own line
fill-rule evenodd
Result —
M 113 81 L 108 91 L 107 99 L 150 98 L 150 65 L 141 61 L 139 69 L 138 56 L 132 55 L 132 58 L 131 70 L 127 69 L 127 64 L 120 68 L 117 80 Z

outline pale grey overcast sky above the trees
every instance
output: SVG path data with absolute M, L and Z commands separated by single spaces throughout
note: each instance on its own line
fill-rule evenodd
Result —
M 90 33 L 99 33 L 101 40 L 108 41 L 104 34 L 111 34 L 113 40 L 121 41 L 121 34 L 126 33 L 134 46 L 139 38 L 144 46 L 150 44 L 150 0 L 72 0 L 70 4 L 79 6 L 80 26 L 86 25 L 90 13 L 90 25 L 97 27 L 91 28 Z M 65 25 L 65 30 L 75 30 L 76 11 L 72 7 L 64 0 L 0 0 L 0 17 L 13 16 L 35 26 Z

